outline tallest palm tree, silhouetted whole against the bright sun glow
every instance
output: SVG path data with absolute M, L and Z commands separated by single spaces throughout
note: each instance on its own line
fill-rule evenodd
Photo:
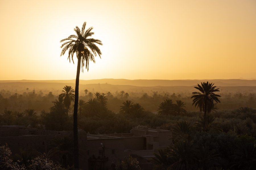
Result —
M 79 90 L 79 76 L 80 76 L 80 68 L 85 66 L 87 71 L 89 70 L 89 61 L 95 63 L 94 57 L 97 54 L 102 54 L 100 48 L 98 48 L 97 44 L 102 45 L 102 42 L 98 39 L 90 38 L 94 33 L 92 32 L 93 27 L 85 30 L 86 22 L 82 25 L 82 30 L 78 26 L 75 27 L 74 31 L 76 35 L 70 35 L 69 37 L 62 39 L 60 42 L 63 42 L 61 45 L 61 56 L 68 51 L 68 59 L 70 62 L 70 58 L 73 63 L 73 56 L 76 53 L 78 62 L 77 62 L 77 76 L 76 76 L 76 86 L 75 86 L 75 103 L 74 103 L 74 165 L 75 168 L 78 169 L 79 161 L 78 161 L 78 128 L 77 128 L 77 110 L 78 110 L 78 90 Z

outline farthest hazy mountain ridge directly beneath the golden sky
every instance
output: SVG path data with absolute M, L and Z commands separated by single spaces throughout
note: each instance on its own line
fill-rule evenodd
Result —
M 213 82 L 215 86 L 256 86 L 256 80 L 244 79 L 213 79 L 213 80 L 128 80 L 128 79 L 94 79 L 80 80 L 80 84 L 113 84 L 113 85 L 131 85 L 131 86 L 195 86 L 201 82 Z M 47 83 L 75 83 L 75 80 L 0 80 L 0 83 L 6 82 L 47 82 Z

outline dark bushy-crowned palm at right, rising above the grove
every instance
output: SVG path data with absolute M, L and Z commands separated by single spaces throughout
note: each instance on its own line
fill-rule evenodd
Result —
M 219 88 L 213 86 L 214 84 L 207 82 L 201 82 L 201 86 L 197 84 L 196 88 L 199 92 L 193 92 L 193 104 L 195 107 L 200 108 L 200 112 L 204 112 L 204 122 L 207 120 L 207 113 L 210 113 L 214 109 L 214 103 L 220 103 L 218 97 L 221 97 L 215 92 L 219 92 Z

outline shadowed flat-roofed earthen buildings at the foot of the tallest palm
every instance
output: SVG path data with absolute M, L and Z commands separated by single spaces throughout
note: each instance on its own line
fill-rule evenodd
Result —
M 111 169 L 111 164 L 117 164 L 127 155 L 137 156 L 150 168 L 147 158 L 154 156 L 159 148 L 172 144 L 171 131 L 158 129 L 132 129 L 131 133 L 90 135 L 79 131 L 79 162 L 81 169 L 103 168 L 102 153 L 104 145 L 105 170 Z M 13 154 L 19 153 L 20 148 L 36 149 L 38 152 L 47 152 L 48 146 L 55 137 L 64 135 L 73 138 L 72 131 L 45 131 L 24 126 L 0 126 L 0 143 L 7 143 Z M 88 139 L 87 139 L 88 136 Z M 89 162 L 88 162 L 89 160 Z M 152 167 L 152 166 L 151 166 Z

